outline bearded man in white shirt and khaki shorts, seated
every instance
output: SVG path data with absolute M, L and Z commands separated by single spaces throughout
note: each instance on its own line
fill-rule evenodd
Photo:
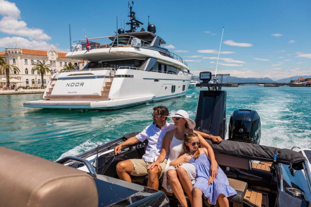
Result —
M 147 167 L 153 163 L 160 155 L 162 147 L 162 139 L 166 132 L 174 129 L 174 124 L 169 124 L 166 122 L 166 116 L 169 115 L 169 110 L 165 106 L 156 106 L 153 108 L 153 124 L 147 126 L 141 133 L 137 134 L 135 137 L 127 139 L 125 142 L 119 144 L 114 148 L 114 153 L 119 154 L 122 146 L 127 146 L 135 144 L 137 142 L 143 142 L 148 140 L 148 145 L 146 147 L 146 153 L 142 156 L 142 159 L 130 159 L 124 160 L 117 164 L 117 173 L 119 179 L 132 182 L 130 174 L 134 176 L 142 176 L 148 174 L 148 184 L 147 187 L 158 189 L 159 180 L 165 171 L 166 162 L 165 159 L 160 163 L 160 168 L 153 168 L 147 170 Z

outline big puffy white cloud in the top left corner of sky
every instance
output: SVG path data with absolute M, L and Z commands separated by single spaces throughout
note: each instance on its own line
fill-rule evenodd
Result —
M 51 37 L 44 33 L 44 30 L 28 28 L 25 21 L 20 19 L 21 11 L 15 3 L 0 0 L 0 32 L 18 36 L 28 37 L 31 40 L 50 40 Z

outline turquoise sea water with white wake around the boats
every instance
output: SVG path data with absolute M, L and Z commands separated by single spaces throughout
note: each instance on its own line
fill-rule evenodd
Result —
M 186 96 L 115 111 L 53 110 L 23 107 L 42 94 L 0 96 L 0 146 L 49 160 L 77 155 L 152 123 L 159 104 L 171 113 L 183 109 L 194 119 L 200 89 Z M 227 91 L 227 124 L 235 109 L 257 110 L 262 122 L 260 144 L 311 148 L 311 88 L 246 87 Z

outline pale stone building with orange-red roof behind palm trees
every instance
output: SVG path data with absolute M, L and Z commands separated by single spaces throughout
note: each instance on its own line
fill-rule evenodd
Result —
M 10 83 L 13 87 L 16 86 L 25 86 L 25 87 L 35 87 L 35 81 L 41 86 L 41 81 L 46 85 L 49 80 L 52 78 L 54 73 L 59 72 L 63 69 L 65 65 L 69 62 L 78 63 L 80 69 L 86 64 L 84 61 L 73 60 L 66 58 L 65 52 L 56 52 L 51 45 L 51 48 L 48 51 L 45 50 L 34 50 L 27 48 L 5 48 L 5 51 L 0 51 L 0 55 L 4 56 L 7 60 L 7 63 L 10 65 L 15 65 L 20 73 L 17 71 L 10 71 Z M 44 74 L 43 80 L 41 80 L 41 75 L 38 71 L 32 71 L 33 62 L 45 62 L 51 65 L 51 73 Z M 4 78 L 6 75 L 3 75 Z M 37 80 L 36 80 L 37 79 Z M 19 80 L 19 81 L 17 81 Z M 2 83 L 6 83 L 6 81 Z

